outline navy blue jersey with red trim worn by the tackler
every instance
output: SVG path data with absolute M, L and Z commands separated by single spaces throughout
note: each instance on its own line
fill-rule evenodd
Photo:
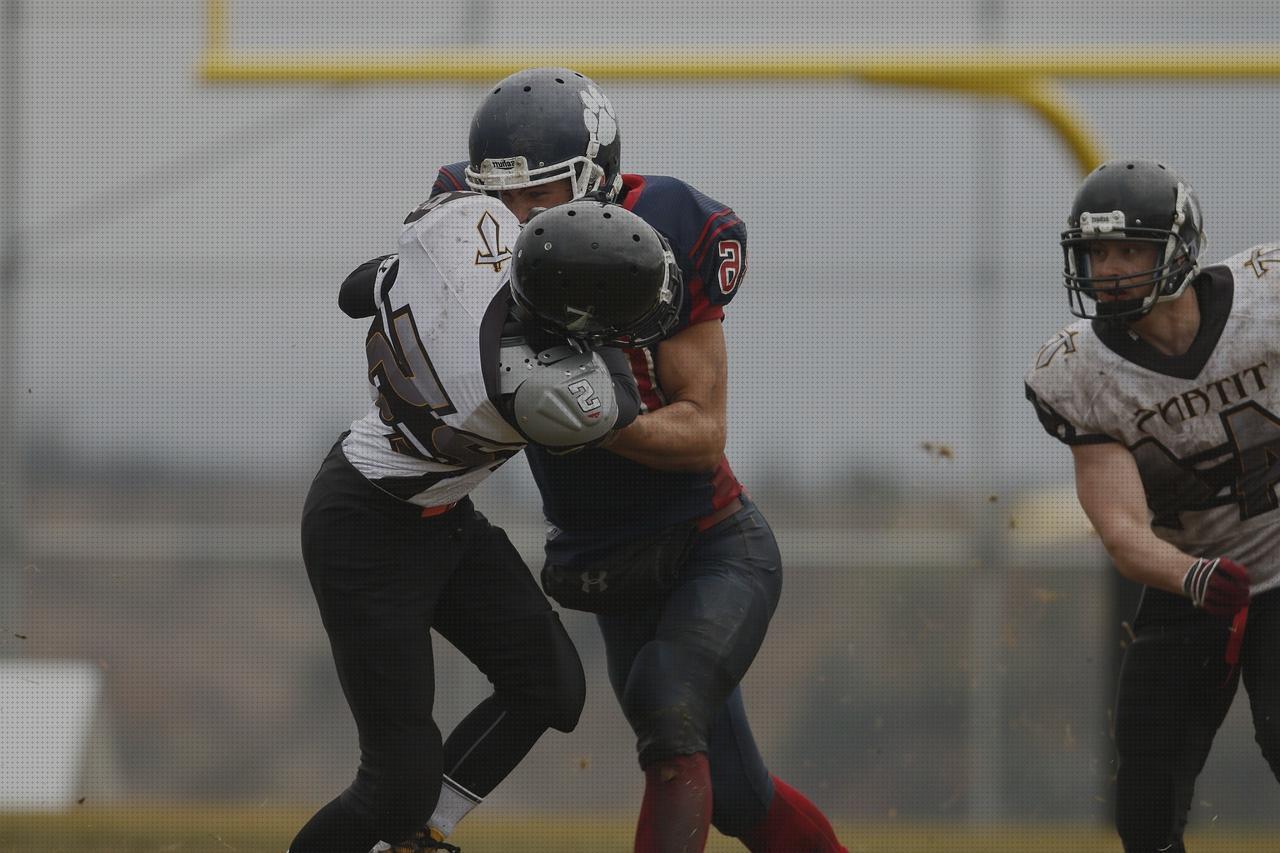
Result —
M 431 195 L 466 190 L 465 168 L 456 163 L 440 169 Z M 671 243 L 685 280 L 677 332 L 722 320 L 746 274 L 746 227 L 737 214 L 684 181 L 660 175 L 622 175 L 618 204 Z M 641 412 L 662 409 L 658 347 L 627 350 L 627 355 Z M 554 456 L 530 446 L 526 456 L 543 496 L 543 512 L 557 528 L 548 548 L 562 558 L 712 516 L 742 492 L 726 459 L 714 471 L 689 473 L 659 471 L 600 450 Z

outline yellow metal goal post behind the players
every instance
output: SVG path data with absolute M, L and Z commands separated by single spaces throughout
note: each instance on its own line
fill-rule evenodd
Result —
M 508 53 L 492 50 L 271 51 L 230 45 L 228 0 L 206 1 L 201 77 L 211 83 L 489 82 L 521 68 L 567 65 L 594 78 L 645 81 L 861 81 L 1007 99 L 1043 118 L 1082 172 L 1105 156 L 1059 82 L 1066 79 L 1231 81 L 1280 78 L 1280 46 L 1146 46 L 1105 50 L 920 47 L 868 51 L 788 46 L 741 53 L 699 51 L 696 59 L 640 51 Z

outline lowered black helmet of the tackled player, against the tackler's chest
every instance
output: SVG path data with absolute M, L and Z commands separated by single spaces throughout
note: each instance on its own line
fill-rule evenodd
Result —
M 550 332 L 593 347 L 646 347 L 680 321 L 676 257 L 625 207 L 580 199 L 536 213 L 512 254 L 512 296 Z

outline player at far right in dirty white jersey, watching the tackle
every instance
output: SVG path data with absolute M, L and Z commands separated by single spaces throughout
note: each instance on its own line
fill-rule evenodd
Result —
M 1192 188 L 1114 160 L 1062 234 L 1071 311 L 1027 396 L 1071 448 L 1080 505 L 1144 584 L 1116 698 L 1116 829 L 1184 850 L 1196 777 L 1243 675 L 1280 775 L 1280 245 L 1199 266 Z

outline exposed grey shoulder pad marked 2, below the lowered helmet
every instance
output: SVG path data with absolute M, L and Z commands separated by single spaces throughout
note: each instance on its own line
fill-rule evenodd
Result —
M 603 438 L 618 420 L 613 378 L 594 352 L 556 347 L 534 352 L 504 339 L 499 356 L 500 394 L 513 394 L 516 429 L 544 447 L 579 447 Z

